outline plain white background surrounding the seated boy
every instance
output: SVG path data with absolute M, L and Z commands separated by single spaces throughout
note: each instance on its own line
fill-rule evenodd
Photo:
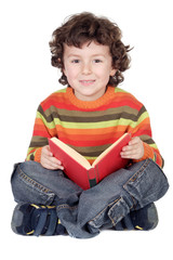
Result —
M 0 235 L 8 259 L 172 259 L 172 188 L 156 205 L 160 222 L 151 232 L 105 231 L 92 239 L 23 237 L 11 232 L 15 203 L 10 186 L 13 164 L 23 161 L 37 107 L 62 88 L 51 66 L 49 41 L 65 17 L 82 11 L 105 15 L 134 47 L 121 88 L 149 112 L 154 139 L 172 183 L 173 16 L 170 0 L 2 0 L 0 3 Z

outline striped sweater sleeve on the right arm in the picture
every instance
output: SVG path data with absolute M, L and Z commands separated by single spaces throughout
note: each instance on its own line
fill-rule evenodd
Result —
M 157 144 L 152 140 L 150 119 L 145 106 L 143 106 L 138 112 L 137 120 L 131 129 L 132 138 L 139 136 L 144 145 L 144 156 L 139 160 L 134 160 L 134 162 L 151 158 L 159 167 L 162 168 L 164 160 L 160 155 Z

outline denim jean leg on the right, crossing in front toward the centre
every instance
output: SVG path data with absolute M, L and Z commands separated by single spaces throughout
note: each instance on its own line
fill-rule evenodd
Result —
M 110 221 L 116 225 L 130 211 L 158 200 L 168 188 L 167 177 L 151 159 L 134 164 L 81 194 L 78 222 L 98 233 Z

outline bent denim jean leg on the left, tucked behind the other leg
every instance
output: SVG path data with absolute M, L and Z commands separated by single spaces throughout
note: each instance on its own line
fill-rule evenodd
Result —
M 72 204 L 82 192 L 63 171 L 48 170 L 36 161 L 16 164 L 11 183 L 17 203 L 50 205 L 66 199 Z

